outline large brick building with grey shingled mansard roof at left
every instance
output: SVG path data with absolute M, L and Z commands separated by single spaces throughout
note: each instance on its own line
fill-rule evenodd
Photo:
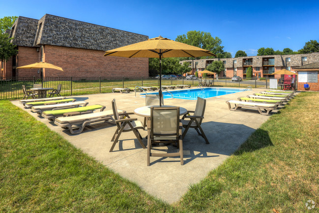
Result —
M 0 79 L 40 77 L 18 66 L 44 61 L 64 71 L 43 69 L 44 77 L 148 77 L 147 58 L 104 57 L 106 50 L 147 40 L 148 36 L 46 14 L 19 17 L 9 31 L 18 54 L 0 63 Z

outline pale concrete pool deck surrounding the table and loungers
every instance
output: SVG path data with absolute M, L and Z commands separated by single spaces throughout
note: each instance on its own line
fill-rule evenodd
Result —
M 146 149 L 142 149 L 132 132 L 122 133 L 114 152 L 109 152 L 113 143 L 111 138 L 116 131 L 115 125 L 90 126 L 79 135 L 71 135 L 68 130 L 23 108 L 18 101 L 12 101 L 12 103 L 47 124 L 50 129 L 58 132 L 76 148 L 93 156 L 120 176 L 137 183 L 149 194 L 173 203 L 180 199 L 190 184 L 201 181 L 209 171 L 220 165 L 270 117 L 262 116 L 257 111 L 230 111 L 225 101 L 237 100 L 237 97 L 264 90 L 253 89 L 253 91 L 207 98 L 202 127 L 210 144 L 206 145 L 204 139 L 198 136 L 194 129 L 190 129 L 183 140 L 183 166 L 180 165 L 179 157 L 151 157 L 151 165 L 146 166 Z M 112 109 L 111 101 L 116 98 L 117 107 L 127 112 L 133 112 L 135 108 L 145 106 L 145 98 L 134 97 L 134 92 L 90 94 L 74 96 L 74 98 L 88 101 L 88 105 L 105 105 L 106 109 Z M 196 100 L 165 99 L 164 102 L 165 105 L 181 106 L 188 110 L 195 110 L 196 105 Z M 132 117 L 142 122 L 144 120 L 135 115 Z M 147 131 L 142 130 L 140 133 L 146 145 Z M 167 147 L 160 149 L 167 149 Z M 173 146 L 168 147 L 169 152 L 175 150 Z

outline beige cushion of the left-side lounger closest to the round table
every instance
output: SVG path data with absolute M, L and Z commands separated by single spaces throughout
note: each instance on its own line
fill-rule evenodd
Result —
M 118 109 L 117 112 L 123 113 L 123 110 Z M 113 115 L 113 110 L 106 110 L 102 112 L 96 112 L 96 113 L 89 113 L 89 114 L 83 114 L 79 116 L 70 116 L 70 117 L 60 117 L 56 119 L 56 122 L 59 123 L 74 123 L 74 122 L 81 122 L 86 120 L 93 120 L 98 118 L 105 118 L 108 116 Z

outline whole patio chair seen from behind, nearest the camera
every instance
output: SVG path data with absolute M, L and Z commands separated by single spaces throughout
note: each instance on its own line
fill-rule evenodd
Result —
M 150 157 L 180 157 L 180 165 L 183 161 L 182 124 L 179 121 L 179 107 L 151 107 L 150 121 L 147 126 L 147 166 L 150 164 Z M 154 153 L 152 145 L 156 143 L 171 144 L 177 143 L 178 152 Z

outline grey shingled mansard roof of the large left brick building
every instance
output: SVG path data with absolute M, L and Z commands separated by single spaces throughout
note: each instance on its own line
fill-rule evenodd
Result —
M 19 46 L 54 45 L 106 51 L 145 41 L 148 38 L 142 34 L 49 14 L 40 20 L 35 20 L 36 23 L 25 17 L 19 17 L 18 20 L 14 24 L 17 30 L 12 29 L 15 30 L 12 32 L 12 37 L 14 37 L 13 43 Z

